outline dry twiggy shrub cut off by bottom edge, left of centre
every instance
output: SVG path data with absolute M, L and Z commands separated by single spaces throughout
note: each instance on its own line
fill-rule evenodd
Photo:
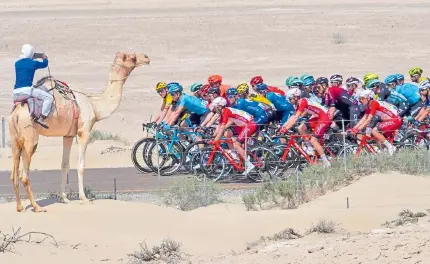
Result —
M 163 239 L 159 246 L 148 248 L 146 242 L 139 244 L 140 249 L 132 254 L 129 263 L 140 264 L 161 260 L 166 263 L 175 263 L 182 259 L 181 244 L 171 239 Z

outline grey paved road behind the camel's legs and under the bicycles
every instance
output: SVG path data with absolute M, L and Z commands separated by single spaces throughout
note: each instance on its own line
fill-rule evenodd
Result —
M 187 177 L 186 175 L 178 176 L 161 176 L 158 179 L 156 174 L 142 174 L 133 168 L 105 168 L 105 169 L 86 169 L 84 176 L 84 185 L 88 185 L 96 191 L 113 192 L 114 179 L 116 178 L 118 192 L 139 192 L 164 189 L 169 185 L 169 181 L 175 178 Z M 30 171 L 31 186 L 34 193 L 49 193 L 51 191 L 60 191 L 61 171 Z M 69 172 L 69 187 L 77 191 L 77 173 L 76 170 Z M 229 180 L 222 184 L 224 188 L 248 188 L 255 187 L 259 184 L 251 183 L 243 178 Z M 66 187 L 68 190 L 69 187 Z M 22 186 L 20 187 L 24 191 Z M 13 195 L 13 187 L 10 182 L 10 172 L 0 171 L 0 196 Z

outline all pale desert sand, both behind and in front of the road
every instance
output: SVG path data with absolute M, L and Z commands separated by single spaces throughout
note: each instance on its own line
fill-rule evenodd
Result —
M 407 76 L 409 68 L 420 66 L 427 75 L 429 11 L 430 3 L 418 0 L 2 0 L 0 116 L 8 116 L 12 108 L 13 63 L 24 43 L 49 56 L 54 77 L 90 93 L 104 88 L 115 52 L 147 53 L 151 65 L 132 73 L 120 107 L 95 126 L 133 143 L 143 136 L 141 123 L 149 121 L 161 102 L 153 90 L 161 80 L 188 87 L 195 81 L 205 82 L 213 73 L 221 74 L 226 84 L 262 75 L 267 83 L 285 89 L 287 76 L 303 73 L 362 77 L 373 71 L 384 78 L 393 72 Z M 47 73 L 38 71 L 35 80 Z M 41 137 L 32 169 L 59 168 L 61 142 Z M 91 144 L 87 167 L 108 167 L 106 155 L 101 158 L 100 152 L 115 144 Z M 111 155 L 109 166 L 132 166 L 127 151 Z M 9 169 L 9 155 L 10 149 L 1 150 L 0 170 Z M 74 146 L 72 168 L 76 156 Z M 402 209 L 425 211 L 430 207 L 429 187 L 426 178 L 372 175 L 297 210 L 264 212 L 246 212 L 243 205 L 228 203 L 181 212 L 97 200 L 86 206 L 43 201 L 48 213 L 19 214 L 15 203 L 1 204 L 1 231 L 20 226 L 23 231 L 52 234 L 62 243 L 59 248 L 48 243 L 16 245 L 21 255 L 0 254 L 0 263 L 123 263 L 139 242 L 146 239 L 151 246 L 166 237 L 180 241 L 190 258 L 201 263 L 388 263 L 393 259 L 418 263 L 427 255 L 412 251 L 429 252 L 428 225 L 420 223 L 392 237 L 367 233 L 381 228 Z M 346 197 L 350 209 L 345 208 Z M 331 219 L 342 230 L 329 237 L 298 240 L 299 246 L 284 245 L 279 251 L 232 253 L 243 252 L 246 242 L 261 235 L 288 227 L 303 231 L 319 219 Z M 351 232 L 353 238 L 342 240 Z M 389 244 L 395 239 L 406 241 L 408 258 L 396 258 L 397 246 Z M 325 250 L 314 255 L 305 252 L 324 241 Z M 369 244 L 388 245 L 381 250 L 391 257 L 375 259 L 378 253 Z M 350 255 L 334 257 L 345 247 Z M 224 257 L 217 258 L 220 254 Z M 426 262 L 428 258 L 421 263 Z

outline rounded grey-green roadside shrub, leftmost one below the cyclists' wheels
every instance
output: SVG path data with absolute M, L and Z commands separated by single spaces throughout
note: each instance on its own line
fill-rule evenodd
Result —
M 220 202 L 220 188 L 212 181 L 202 183 L 195 178 L 181 178 L 172 181 L 162 196 L 166 205 L 189 211 Z

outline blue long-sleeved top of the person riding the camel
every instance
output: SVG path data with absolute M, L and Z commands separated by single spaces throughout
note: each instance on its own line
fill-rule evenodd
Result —
M 47 59 L 43 59 L 43 62 L 29 58 L 17 60 L 15 62 L 16 79 L 14 89 L 32 86 L 36 70 L 46 68 L 47 66 Z

